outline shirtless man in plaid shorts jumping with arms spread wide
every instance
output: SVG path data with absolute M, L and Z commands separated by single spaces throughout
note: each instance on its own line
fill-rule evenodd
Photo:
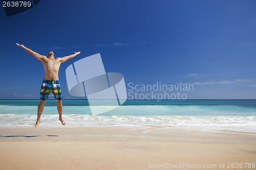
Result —
M 58 78 L 58 72 L 59 72 L 59 66 L 61 63 L 75 57 L 76 55 L 80 54 L 80 52 L 75 52 L 75 54 L 62 57 L 62 58 L 54 58 L 54 53 L 51 51 L 48 53 L 47 56 L 42 56 L 36 52 L 33 52 L 29 48 L 25 47 L 24 45 L 18 46 L 23 47 L 26 52 L 33 55 L 36 59 L 40 60 L 42 62 L 42 65 L 44 65 L 45 68 L 45 77 L 42 81 L 41 91 L 40 91 L 40 103 L 37 108 L 37 120 L 34 125 L 34 127 L 38 127 L 40 124 L 40 117 L 42 114 L 42 111 L 44 110 L 44 106 L 46 103 L 46 100 L 48 98 L 48 95 L 50 92 L 53 93 L 55 100 L 57 102 L 57 110 L 59 112 L 59 121 L 62 125 L 66 125 L 62 118 L 62 95 L 61 95 L 61 89 L 59 84 L 59 78 Z

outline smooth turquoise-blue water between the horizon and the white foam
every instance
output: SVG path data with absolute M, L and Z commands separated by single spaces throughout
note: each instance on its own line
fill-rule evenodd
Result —
M 38 100 L 0 100 L 0 114 L 36 114 L 38 103 Z M 63 114 L 91 114 L 86 100 L 63 100 L 62 104 Z M 47 101 L 44 113 L 57 113 L 55 107 L 55 100 Z M 133 100 L 103 115 L 256 116 L 256 100 Z

